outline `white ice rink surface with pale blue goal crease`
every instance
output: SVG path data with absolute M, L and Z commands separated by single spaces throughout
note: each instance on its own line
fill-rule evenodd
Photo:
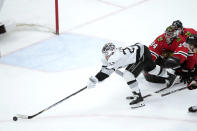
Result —
M 15 18 L 12 13 L 23 2 L 32 6 L 26 0 L 5 0 L 0 21 L 22 19 L 22 14 Z M 42 9 L 50 4 L 39 2 Z M 85 87 L 100 70 L 100 50 L 106 41 L 148 46 L 177 19 L 197 29 L 196 4 L 196 0 L 59 0 L 60 36 L 18 27 L 0 35 L 0 131 L 196 131 L 197 114 L 187 109 L 197 104 L 197 90 L 149 97 L 145 107 L 133 110 L 125 99 L 130 89 L 116 74 L 31 120 L 12 121 L 18 113 L 33 115 Z M 146 82 L 142 75 L 138 81 L 143 95 L 165 87 Z

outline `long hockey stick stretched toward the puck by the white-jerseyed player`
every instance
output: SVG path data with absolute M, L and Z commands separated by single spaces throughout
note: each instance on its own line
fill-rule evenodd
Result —
M 74 96 L 74 95 L 78 94 L 79 92 L 85 90 L 86 88 L 87 88 L 87 86 L 85 86 L 84 88 L 82 88 L 82 89 L 76 91 L 75 93 L 73 93 L 73 94 L 71 94 L 71 95 L 65 97 L 64 99 L 62 99 L 62 100 L 60 100 L 60 101 L 54 103 L 53 105 L 51 105 L 51 106 L 45 108 L 44 110 L 42 110 L 42 111 L 40 111 L 40 112 L 38 112 L 38 113 L 36 113 L 36 114 L 34 114 L 34 115 L 28 116 L 28 115 L 17 114 L 16 116 L 13 117 L 13 120 L 14 120 L 14 121 L 17 121 L 18 118 L 21 118 L 21 119 L 32 119 L 32 118 L 36 117 L 37 115 L 39 115 L 39 114 L 41 114 L 41 113 L 43 113 L 43 112 L 49 110 L 50 108 L 56 106 L 57 104 L 63 102 L 64 100 L 70 98 L 71 96 Z

